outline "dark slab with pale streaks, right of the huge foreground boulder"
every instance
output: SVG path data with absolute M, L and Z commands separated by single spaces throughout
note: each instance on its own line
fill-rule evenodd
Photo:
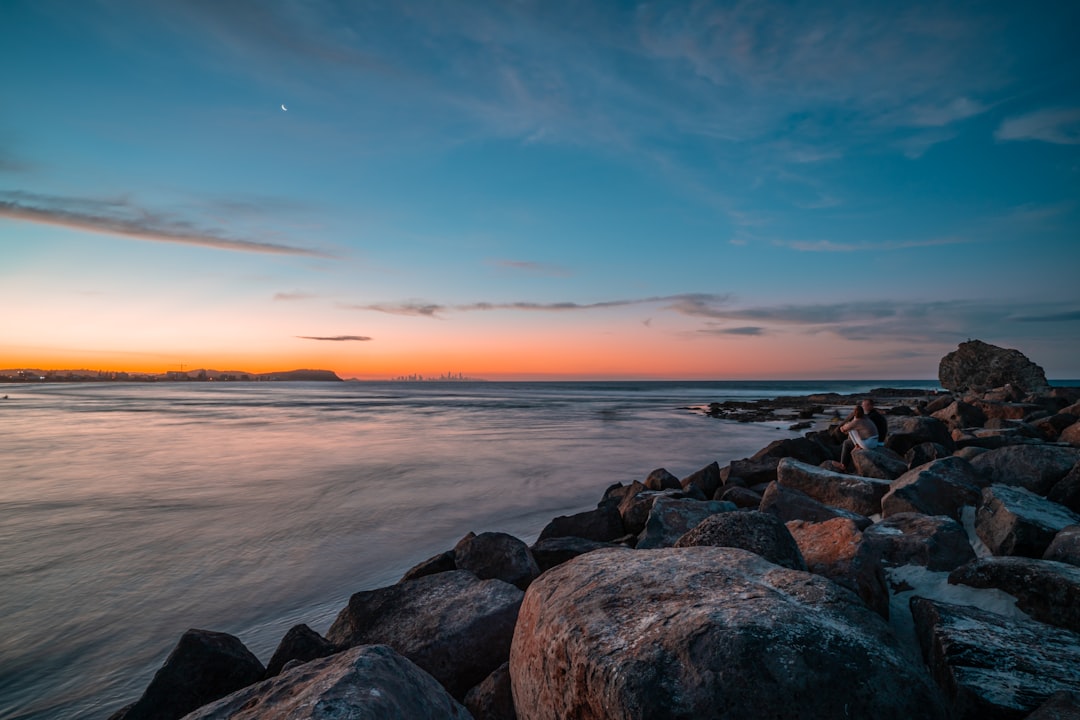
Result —
M 1080 636 L 971 606 L 912 598 L 930 671 L 961 719 L 1023 718 L 1080 688 Z

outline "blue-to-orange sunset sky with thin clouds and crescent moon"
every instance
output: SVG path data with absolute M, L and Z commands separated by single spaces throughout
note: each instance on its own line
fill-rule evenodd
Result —
M 2 0 L 0 367 L 1080 378 L 1080 3 Z

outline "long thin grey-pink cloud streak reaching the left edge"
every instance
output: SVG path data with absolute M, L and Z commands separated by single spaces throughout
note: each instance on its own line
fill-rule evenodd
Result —
M 218 231 L 200 228 L 190 220 L 135 205 L 127 199 L 100 200 L 22 191 L 0 192 L 0 217 L 148 242 L 243 253 L 330 257 L 306 247 L 230 237 Z

